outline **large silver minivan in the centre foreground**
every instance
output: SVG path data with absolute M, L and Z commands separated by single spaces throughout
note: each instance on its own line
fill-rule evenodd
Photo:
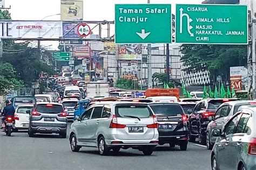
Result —
M 77 116 L 70 130 L 70 146 L 97 147 L 100 155 L 134 148 L 151 155 L 158 144 L 157 118 L 146 103 L 99 102 Z

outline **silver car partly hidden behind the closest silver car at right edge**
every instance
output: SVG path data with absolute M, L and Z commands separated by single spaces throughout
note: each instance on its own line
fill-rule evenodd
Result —
M 231 101 L 223 103 L 219 106 L 218 110 L 212 117 L 212 121 L 207 125 L 206 129 L 206 146 L 208 150 L 211 150 L 216 137 L 212 136 L 213 129 L 223 129 L 225 123 L 239 110 L 247 108 L 256 103 L 253 101 Z M 211 119 L 211 118 L 210 118 Z

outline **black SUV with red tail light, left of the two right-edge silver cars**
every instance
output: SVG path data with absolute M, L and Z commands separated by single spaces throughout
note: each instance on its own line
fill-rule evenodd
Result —
M 206 99 L 201 100 L 192 114 L 188 116 L 188 129 L 190 134 L 188 135 L 189 141 L 195 141 L 196 138 L 199 140 L 199 144 L 206 144 L 206 129 L 210 122 L 209 117 L 213 116 L 217 111 L 220 104 L 228 101 L 235 101 L 237 98 L 217 98 L 217 99 Z

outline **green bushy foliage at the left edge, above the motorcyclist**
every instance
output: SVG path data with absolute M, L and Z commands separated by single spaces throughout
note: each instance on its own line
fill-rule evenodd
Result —
M 22 87 L 23 82 L 15 78 L 15 70 L 12 65 L 10 63 L 0 63 L 0 95 Z

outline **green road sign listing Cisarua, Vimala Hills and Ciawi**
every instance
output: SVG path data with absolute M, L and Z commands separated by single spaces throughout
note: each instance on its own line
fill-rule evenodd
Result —
M 248 44 L 246 5 L 176 5 L 176 42 Z

